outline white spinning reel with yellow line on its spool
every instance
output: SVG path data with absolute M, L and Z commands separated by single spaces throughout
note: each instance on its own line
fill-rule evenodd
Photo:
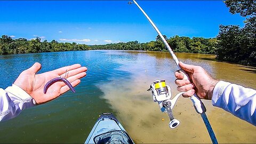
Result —
M 171 93 L 171 87 L 165 84 L 164 80 L 156 80 L 151 85 L 147 91 L 152 92 L 152 97 L 154 102 L 158 102 L 158 105 L 162 112 L 166 112 L 170 118 L 169 126 L 171 129 L 177 127 L 180 124 L 178 119 L 175 119 L 172 113 L 172 109 L 180 97 L 184 92 L 178 93 L 175 95 L 173 99 Z

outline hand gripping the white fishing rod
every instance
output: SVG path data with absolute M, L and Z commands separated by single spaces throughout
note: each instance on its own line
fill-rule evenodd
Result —
M 175 84 L 178 85 L 177 90 L 185 92 L 182 94 L 183 97 L 190 97 L 195 92 L 201 99 L 212 99 L 212 93 L 214 86 L 219 82 L 213 79 L 207 71 L 200 66 L 187 65 L 183 62 L 179 62 L 181 69 L 185 70 L 188 74 L 188 79 L 183 79 L 183 74 L 179 71 L 175 71 Z

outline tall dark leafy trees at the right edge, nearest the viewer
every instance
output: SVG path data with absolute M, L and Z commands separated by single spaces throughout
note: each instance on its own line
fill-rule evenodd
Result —
M 244 21 L 243 28 L 220 25 L 217 59 L 256 66 L 256 1 L 227 0 L 225 4 L 230 7 L 232 14 L 250 17 Z

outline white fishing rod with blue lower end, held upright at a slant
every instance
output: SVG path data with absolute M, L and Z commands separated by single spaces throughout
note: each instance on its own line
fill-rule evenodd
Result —
M 179 65 L 179 59 L 176 57 L 176 55 L 174 54 L 174 52 L 172 51 L 171 47 L 169 46 L 169 44 L 167 43 L 167 41 L 165 40 L 164 36 L 161 34 L 161 32 L 159 31 L 159 29 L 156 27 L 155 23 L 148 17 L 147 13 L 140 7 L 140 5 L 135 1 L 133 0 L 133 2 L 128 2 L 128 4 L 136 4 L 139 9 L 141 10 L 141 12 L 145 15 L 145 17 L 148 19 L 148 21 L 150 22 L 150 24 L 154 27 L 154 29 L 156 30 L 156 32 L 158 33 L 158 35 L 161 37 L 161 39 L 163 40 L 164 42 L 164 45 L 167 47 L 168 51 L 171 53 L 172 55 L 172 58 L 174 60 L 174 62 L 176 63 L 178 69 L 179 69 L 179 72 L 183 74 L 184 76 L 184 79 L 188 79 L 189 80 L 189 77 L 188 75 L 186 74 L 186 71 L 184 71 L 183 69 L 180 68 L 180 65 Z M 194 95 L 192 95 L 190 97 L 191 101 L 193 102 L 193 105 L 194 105 L 194 108 L 196 110 L 196 112 L 198 114 L 201 114 L 201 117 L 204 121 L 204 124 L 206 126 L 206 129 L 211 137 L 211 140 L 212 140 L 212 143 L 218 143 L 217 141 L 217 138 L 215 137 L 215 134 L 212 130 L 212 127 L 211 127 L 211 124 L 205 114 L 206 112 L 206 108 L 204 106 L 204 103 L 201 101 L 201 99 L 196 95 L 196 93 Z

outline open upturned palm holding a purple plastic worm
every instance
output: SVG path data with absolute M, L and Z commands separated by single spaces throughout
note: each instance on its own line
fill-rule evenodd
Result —
M 14 82 L 15 85 L 26 91 L 37 104 L 42 104 L 58 98 L 61 94 L 67 92 L 69 87 L 63 82 L 56 82 L 52 84 L 47 93 L 44 94 L 44 85 L 53 78 L 65 77 L 73 87 L 78 85 L 86 76 L 86 67 L 81 67 L 79 64 L 62 67 L 52 71 L 47 71 L 42 74 L 36 74 L 41 69 L 41 64 L 36 62 L 32 67 L 22 71 L 19 77 Z

